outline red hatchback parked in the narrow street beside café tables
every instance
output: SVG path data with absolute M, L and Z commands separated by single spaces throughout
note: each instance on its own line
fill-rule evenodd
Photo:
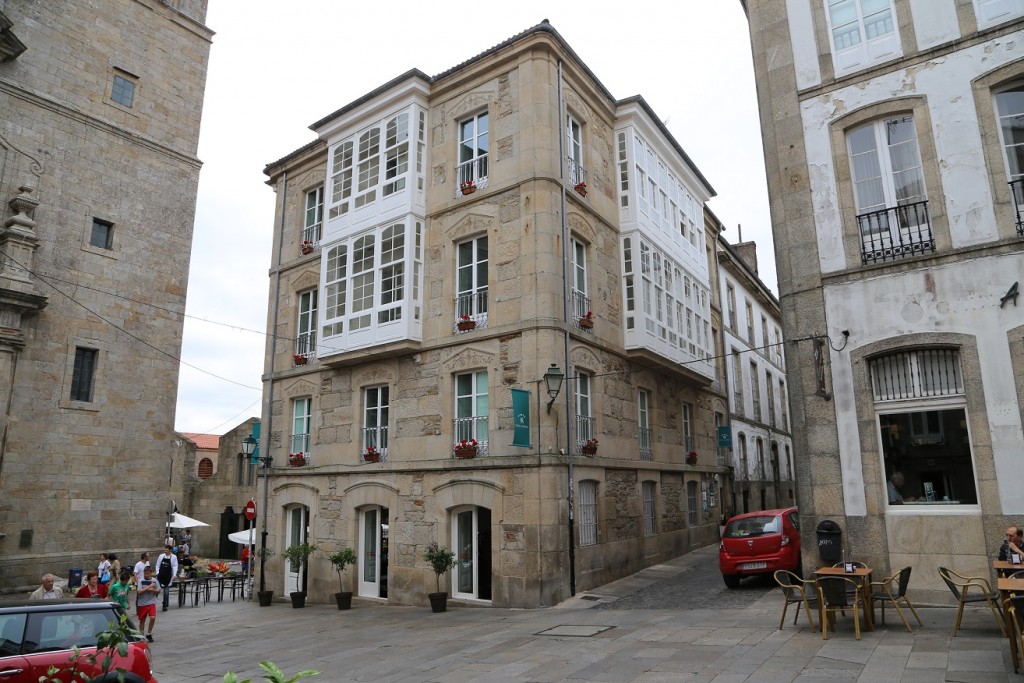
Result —
M 797 508 L 736 515 L 725 524 L 718 565 L 729 588 L 743 577 L 776 569 L 801 572 L 800 519 Z

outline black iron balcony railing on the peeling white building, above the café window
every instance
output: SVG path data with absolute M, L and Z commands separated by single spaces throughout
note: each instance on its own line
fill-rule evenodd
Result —
M 895 261 L 935 251 L 928 201 L 870 211 L 857 216 L 860 262 Z

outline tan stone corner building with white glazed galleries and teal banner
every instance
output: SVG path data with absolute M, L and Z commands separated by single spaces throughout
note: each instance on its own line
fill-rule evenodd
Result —
M 646 102 L 542 24 L 311 128 L 265 169 L 271 549 L 350 546 L 357 595 L 425 603 L 437 542 L 454 599 L 539 606 L 714 543 L 714 190 Z

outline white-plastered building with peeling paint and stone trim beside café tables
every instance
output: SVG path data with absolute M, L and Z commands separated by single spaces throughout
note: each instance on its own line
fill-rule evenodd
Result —
M 1024 514 L 1024 3 L 744 6 L 805 541 L 986 575 Z

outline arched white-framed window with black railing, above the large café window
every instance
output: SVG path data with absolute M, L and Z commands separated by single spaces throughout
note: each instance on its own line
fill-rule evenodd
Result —
M 913 118 L 861 126 L 847 142 L 863 262 L 935 251 Z

